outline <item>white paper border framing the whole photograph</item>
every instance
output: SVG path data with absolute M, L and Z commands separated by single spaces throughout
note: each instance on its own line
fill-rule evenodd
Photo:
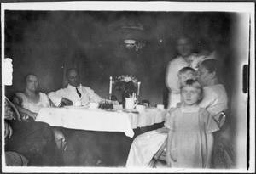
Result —
M 254 36 L 254 9 L 253 2 L 44 2 L 44 3 L 1 3 L 1 27 L 2 27 L 2 65 L 4 58 L 4 11 L 5 10 L 71 10 L 71 11 L 182 11 L 182 12 L 244 12 L 251 18 L 250 37 L 250 167 L 249 169 L 236 170 L 208 170 L 209 172 L 255 172 L 255 36 Z M 2 68 L 3 75 L 3 68 Z M 3 76 L 2 76 L 3 79 Z M 2 115 L 4 104 L 4 86 L 2 83 Z M 4 132 L 2 116 L 2 132 Z M 2 133 L 2 139 L 4 139 Z M 2 154 L 4 154 L 2 141 Z M 8 167 L 4 166 L 4 155 L 2 155 L 3 172 L 206 172 L 202 170 L 184 170 L 184 169 L 128 169 L 128 168 L 95 168 L 95 167 Z

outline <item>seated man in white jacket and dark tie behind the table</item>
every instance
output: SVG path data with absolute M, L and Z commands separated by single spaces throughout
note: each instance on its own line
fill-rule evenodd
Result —
M 90 102 L 102 103 L 108 102 L 115 104 L 108 99 L 103 99 L 98 96 L 90 87 L 84 87 L 79 81 L 79 70 L 68 69 L 66 72 L 66 77 L 68 85 L 66 88 L 61 88 L 56 92 L 51 92 L 48 94 L 50 100 L 55 104 L 55 106 L 62 105 L 88 105 Z

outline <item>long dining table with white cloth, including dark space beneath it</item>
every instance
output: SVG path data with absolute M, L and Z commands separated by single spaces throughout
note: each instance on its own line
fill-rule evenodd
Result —
M 67 138 L 63 166 L 125 166 L 140 127 L 166 120 L 166 109 L 42 108 L 36 121 L 61 128 Z

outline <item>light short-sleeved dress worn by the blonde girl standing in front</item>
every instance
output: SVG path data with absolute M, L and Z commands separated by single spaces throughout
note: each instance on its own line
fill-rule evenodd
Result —
M 165 123 L 173 133 L 172 167 L 202 168 L 207 158 L 207 133 L 219 130 L 206 109 L 173 109 Z

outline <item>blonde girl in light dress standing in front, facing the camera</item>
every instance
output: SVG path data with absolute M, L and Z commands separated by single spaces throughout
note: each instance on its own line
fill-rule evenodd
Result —
M 187 80 L 180 87 L 182 104 L 173 109 L 165 126 L 167 137 L 166 163 L 172 167 L 209 168 L 216 122 L 198 103 L 203 97 L 198 81 Z

